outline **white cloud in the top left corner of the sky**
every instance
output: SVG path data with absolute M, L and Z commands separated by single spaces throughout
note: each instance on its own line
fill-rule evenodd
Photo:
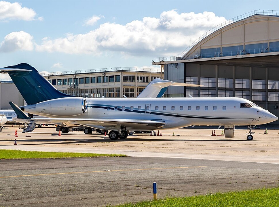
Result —
M 36 12 L 27 7 L 22 7 L 20 3 L 10 3 L 0 1 L 0 20 L 35 20 Z

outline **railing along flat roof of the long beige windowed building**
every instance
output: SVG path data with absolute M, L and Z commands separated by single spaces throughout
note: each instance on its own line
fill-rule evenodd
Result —
M 106 73 L 106 72 L 149 72 L 149 73 L 160 73 L 160 68 L 129 68 L 129 67 L 117 67 L 117 68 L 98 68 L 89 70 L 72 70 L 72 71 L 61 71 L 61 72 L 49 72 L 42 73 L 42 76 L 61 76 L 61 75 L 76 75 L 76 74 L 87 74 L 87 73 Z M 164 72 L 164 71 L 163 71 Z

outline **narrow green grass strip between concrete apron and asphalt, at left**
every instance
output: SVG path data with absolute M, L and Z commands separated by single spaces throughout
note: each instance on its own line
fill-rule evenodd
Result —
M 0 150 L 0 159 L 30 159 L 30 158 L 81 158 L 81 157 L 125 157 L 123 154 L 95 154 L 73 152 L 38 152 L 22 150 Z

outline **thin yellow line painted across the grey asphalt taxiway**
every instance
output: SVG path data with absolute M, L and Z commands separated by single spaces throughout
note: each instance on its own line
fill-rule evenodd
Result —
M 101 170 L 101 171 L 86 171 L 86 172 L 73 172 L 73 173 L 48 173 L 48 174 L 37 174 L 37 175 L 14 175 L 4 176 L 0 178 L 9 177 L 28 177 L 28 176 L 40 176 L 40 175 L 64 175 L 64 174 L 79 174 L 79 173 L 102 173 L 102 172 L 124 172 L 124 171 L 136 171 L 136 170 L 164 170 L 164 169 L 183 169 L 183 168 L 202 168 L 206 166 L 193 166 L 193 167 L 173 167 L 173 168 L 143 168 L 143 169 L 128 169 L 128 170 Z

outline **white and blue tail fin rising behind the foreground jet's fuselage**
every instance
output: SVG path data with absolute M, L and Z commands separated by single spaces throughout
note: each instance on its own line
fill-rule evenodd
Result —
M 164 95 L 169 86 L 199 87 L 201 85 L 174 83 L 172 81 L 156 78 L 147 85 L 147 87 L 140 93 L 140 95 L 138 95 L 137 98 L 160 98 Z

